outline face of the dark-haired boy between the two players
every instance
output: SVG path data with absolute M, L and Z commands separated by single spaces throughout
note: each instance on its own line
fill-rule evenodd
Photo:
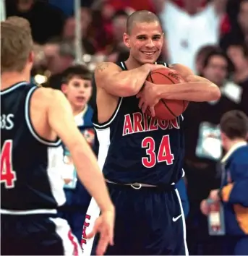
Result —
M 82 78 L 77 76 L 72 77 L 67 85 L 62 85 L 62 91 L 72 106 L 84 108 L 92 94 L 91 81 L 82 80 Z

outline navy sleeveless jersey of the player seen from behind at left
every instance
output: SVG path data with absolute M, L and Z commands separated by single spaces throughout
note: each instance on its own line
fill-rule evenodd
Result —
M 37 89 L 19 82 L 1 90 L 1 213 L 56 213 L 65 202 L 56 168 L 63 159 L 61 141 L 43 139 L 30 121 Z

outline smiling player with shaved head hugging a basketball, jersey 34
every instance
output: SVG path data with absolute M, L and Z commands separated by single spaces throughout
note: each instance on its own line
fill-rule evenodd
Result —
M 182 175 L 183 117 L 159 121 L 142 112 L 149 107 L 154 116 L 160 98 L 215 101 L 220 92 L 187 67 L 155 64 L 163 46 L 163 31 L 155 14 L 138 11 L 130 15 L 123 39 L 130 51 L 127 61 L 103 63 L 95 70 L 93 123 L 99 141 L 98 162 L 116 206 L 114 246 L 108 247 L 106 255 L 187 255 L 184 213 L 174 189 Z M 176 69 L 188 82 L 153 85 L 145 81 L 149 72 L 165 67 Z M 88 231 L 95 217 L 93 204 L 92 200 L 87 211 Z M 91 243 L 85 242 L 85 252 Z

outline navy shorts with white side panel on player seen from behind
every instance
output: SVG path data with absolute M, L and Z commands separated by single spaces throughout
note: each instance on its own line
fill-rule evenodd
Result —
M 1 255 L 82 255 L 67 221 L 1 214 Z

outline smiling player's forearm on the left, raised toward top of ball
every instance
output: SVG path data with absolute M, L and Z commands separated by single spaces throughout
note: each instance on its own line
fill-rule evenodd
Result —
M 113 83 L 119 82 L 126 96 L 136 95 L 150 72 L 150 65 L 145 64 L 137 69 L 124 70 L 113 76 Z

